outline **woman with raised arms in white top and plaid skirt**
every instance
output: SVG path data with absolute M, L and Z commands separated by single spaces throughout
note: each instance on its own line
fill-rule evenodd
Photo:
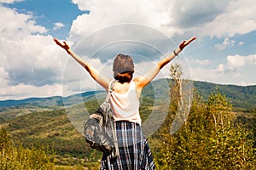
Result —
M 134 65 L 129 55 L 119 54 L 113 61 L 113 77 L 117 81 L 113 84 L 113 93 L 110 103 L 113 111 L 113 120 L 116 127 L 119 144 L 119 156 L 112 160 L 110 156 L 103 155 L 101 169 L 154 169 L 154 161 L 148 146 L 147 139 L 144 139 L 139 115 L 139 98 L 143 88 L 151 82 L 167 63 L 174 59 L 183 48 L 194 41 L 196 37 L 180 43 L 179 47 L 168 57 L 160 60 L 145 75 L 133 78 Z M 95 68 L 84 62 L 66 42 L 56 44 L 67 51 L 73 59 L 79 62 L 90 76 L 108 92 L 111 79 L 99 74 Z

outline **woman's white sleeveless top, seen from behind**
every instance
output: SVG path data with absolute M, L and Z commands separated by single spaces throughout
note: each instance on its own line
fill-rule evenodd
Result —
M 137 99 L 135 82 L 130 82 L 130 87 L 125 94 L 112 92 L 110 104 L 113 111 L 113 120 L 142 123 L 139 114 L 140 102 Z

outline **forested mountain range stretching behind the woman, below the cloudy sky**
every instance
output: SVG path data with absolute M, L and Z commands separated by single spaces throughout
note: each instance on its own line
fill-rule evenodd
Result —
M 157 105 L 155 107 L 154 102 L 166 100 L 171 82 L 171 79 L 159 79 L 143 89 L 140 107 L 143 120 L 154 119 L 155 124 L 161 122 L 160 114 L 164 112 L 163 110 L 166 111 L 166 108 Z M 246 115 L 242 116 L 242 120 L 247 122 L 247 127 L 254 128 L 256 86 L 243 87 L 195 81 L 191 82 L 191 85 L 194 92 L 201 95 L 205 101 L 216 90 L 224 94 L 237 111 Z M 86 120 L 82 117 L 84 108 L 89 113 L 96 111 L 105 96 L 105 91 L 90 91 L 67 97 L 53 96 L 0 101 L 0 127 L 7 129 L 15 144 L 22 144 L 26 147 L 43 146 L 49 151 L 53 150 L 55 163 L 58 165 L 83 164 L 87 167 L 88 162 L 98 162 L 101 153 L 91 150 L 86 145 L 83 135 L 76 126 L 79 122 Z M 156 116 L 154 114 L 148 116 L 152 110 L 159 112 L 155 114 Z M 242 112 L 248 110 L 254 112 L 247 114 Z M 72 120 L 71 116 L 77 119 Z

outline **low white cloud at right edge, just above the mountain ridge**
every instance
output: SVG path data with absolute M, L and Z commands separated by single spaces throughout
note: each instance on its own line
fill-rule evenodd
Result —
M 214 69 L 191 68 L 194 80 L 215 82 L 221 84 L 253 85 L 256 65 L 256 55 L 229 55 L 226 63 L 219 64 Z

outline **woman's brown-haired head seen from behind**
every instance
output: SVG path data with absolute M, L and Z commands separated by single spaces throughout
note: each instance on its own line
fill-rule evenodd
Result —
M 113 77 L 120 83 L 131 82 L 134 73 L 133 60 L 130 55 L 118 54 L 113 60 Z

